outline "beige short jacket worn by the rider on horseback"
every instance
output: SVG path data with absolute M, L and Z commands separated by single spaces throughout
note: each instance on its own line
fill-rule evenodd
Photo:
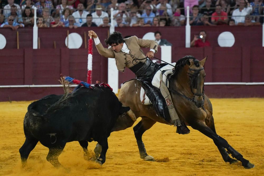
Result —
M 126 45 L 128 46 L 128 49 L 130 49 L 129 54 L 123 51 L 119 51 L 118 53 L 116 53 L 112 49 L 112 47 L 110 47 L 109 49 L 104 48 L 101 43 L 96 45 L 96 48 L 100 55 L 106 58 L 115 58 L 116 67 L 121 72 L 124 72 L 126 67 L 130 68 L 134 66 L 134 64 L 137 64 L 139 61 L 140 62 L 146 61 L 146 59 L 134 60 L 134 59 L 143 59 L 146 57 L 140 47 L 149 47 L 150 49 L 154 49 L 155 53 L 157 53 L 158 44 L 154 40 L 139 39 L 136 36 L 132 36 L 124 40 Z

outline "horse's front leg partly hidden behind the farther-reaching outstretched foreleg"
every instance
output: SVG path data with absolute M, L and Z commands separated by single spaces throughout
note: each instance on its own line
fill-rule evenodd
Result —
M 214 117 L 211 116 L 209 119 L 206 118 L 205 119 L 205 124 L 213 131 L 216 133 L 215 131 L 215 126 L 214 126 Z M 216 141 L 214 140 L 214 143 L 216 145 Z M 216 145 L 217 146 L 217 145 Z M 237 163 L 238 161 L 236 159 L 232 159 L 230 158 L 229 154 L 227 153 L 227 151 L 225 150 L 225 148 L 223 148 L 222 146 L 217 146 L 223 160 L 225 162 L 229 162 L 230 164 L 232 163 Z

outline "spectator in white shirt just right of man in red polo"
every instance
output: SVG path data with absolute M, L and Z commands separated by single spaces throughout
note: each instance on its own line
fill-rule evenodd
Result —
M 247 2 L 247 8 L 245 8 L 245 4 Z M 245 16 L 249 15 L 252 11 L 252 6 L 249 4 L 248 0 L 240 0 L 239 1 L 239 8 L 235 9 L 232 13 L 232 19 L 235 20 L 235 24 L 237 23 L 244 23 L 245 22 Z

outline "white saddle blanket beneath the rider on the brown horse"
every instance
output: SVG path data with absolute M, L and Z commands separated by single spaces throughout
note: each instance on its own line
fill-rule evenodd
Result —
M 176 65 L 176 63 L 172 63 L 171 65 Z M 163 71 L 163 70 L 167 70 L 166 72 L 164 72 L 164 74 L 162 75 L 162 80 L 163 80 L 163 82 L 166 84 L 166 79 L 167 79 L 167 75 L 168 74 L 171 74 L 172 72 L 173 72 L 173 66 L 171 66 L 171 65 L 165 65 L 164 67 L 162 67 L 160 70 L 158 70 L 156 73 L 155 73 L 155 75 L 154 75 L 154 77 L 153 77 L 153 79 L 152 79 L 152 85 L 154 85 L 155 87 L 157 87 L 157 88 L 160 88 L 160 82 L 161 82 L 161 78 L 160 78 L 160 75 L 161 75 L 161 72 Z M 169 84 L 167 85 L 168 87 L 169 87 Z M 145 94 L 145 91 L 144 91 L 144 89 L 141 87 L 141 90 L 140 90 L 140 101 L 143 103 L 143 104 L 145 104 L 145 105 L 149 105 L 149 104 L 152 104 L 151 102 L 150 102 L 150 100 L 149 100 L 149 98 L 147 97 L 147 95 L 145 95 L 144 96 L 144 94 Z

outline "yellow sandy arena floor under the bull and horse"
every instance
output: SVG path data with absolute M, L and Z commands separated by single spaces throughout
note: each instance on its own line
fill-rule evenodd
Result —
M 244 158 L 255 164 L 244 169 L 241 163 L 227 164 L 213 141 L 190 128 L 188 135 L 176 128 L 156 123 L 143 135 L 147 153 L 164 162 L 143 161 L 132 127 L 113 132 L 108 138 L 106 163 L 99 166 L 83 159 L 77 141 L 67 143 L 59 157 L 70 169 L 55 169 L 40 143 L 30 153 L 28 167 L 21 168 L 19 148 L 25 136 L 23 118 L 31 102 L 0 102 L 0 175 L 264 175 L 264 99 L 211 99 L 215 127 Z M 136 123 L 138 123 L 140 118 Z M 135 123 L 135 124 L 136 124 Z M 92 152 L 96 143 L 89 143 Z

